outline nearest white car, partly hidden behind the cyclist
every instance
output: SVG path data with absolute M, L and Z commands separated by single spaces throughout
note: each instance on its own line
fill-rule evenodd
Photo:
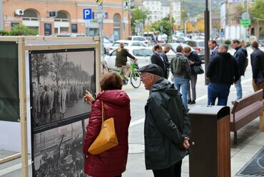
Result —
M 151 64 L 151 54 L 153 54 L 153 52 L 148 47 L 127 46 L 125 49 L 128 49 L 129 53 L 135 56 L 139 68 Z M 117 49 L 113 50 L 110 54 L 104 57 L 109 69 L 116 69 L 116 50 Z

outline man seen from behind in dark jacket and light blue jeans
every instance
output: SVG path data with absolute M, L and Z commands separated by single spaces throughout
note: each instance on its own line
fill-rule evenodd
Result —
M 191 68 L 186 56 L 183 55 L 183 46 L 177 46 L 176 57 L 171 61 L 171 72 L 174 76 L 174 86 L 183 94 L 183 104 L 188 110 L 187 94 L 190 89 Z

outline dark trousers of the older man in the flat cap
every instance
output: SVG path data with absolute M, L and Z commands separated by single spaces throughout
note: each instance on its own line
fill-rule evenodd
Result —
M 169 168 L 153 170 L 154 177 L 181 177 L 181 163 L 182 161 L 178 161 Z

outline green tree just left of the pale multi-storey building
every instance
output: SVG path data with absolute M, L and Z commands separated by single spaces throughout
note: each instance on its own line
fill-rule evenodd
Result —
M 136 7 L 136 9 L 133 9 L 133 11 L 131 11 L 131 13 L 132 13 L 131 30 L 135 31 L 136 20 L 142 21 L 143 24 L 145 24 L 145 21 L 146 21 L 146 19 L 148 17 L 148 10 L 139 9 L 138 7 Z

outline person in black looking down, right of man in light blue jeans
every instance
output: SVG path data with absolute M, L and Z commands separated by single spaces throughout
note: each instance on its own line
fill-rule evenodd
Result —
M 191 47 L 186 46 L 184 49 L 184 54 L 187 57 L 189 61 L 189 65 L 191 68 L 191 84 L 190 88 L 188 89 L 188 103 L 189 104 L 195 104 L 196 103 L 196 82 L 197 82 L 197 74 L 193 69 L 193 66 L 200 66 L 202 64 L 202 61 L 200 60 L 200 57 L 198 54 L 194 54 L 193 51 L 191 51 Z

